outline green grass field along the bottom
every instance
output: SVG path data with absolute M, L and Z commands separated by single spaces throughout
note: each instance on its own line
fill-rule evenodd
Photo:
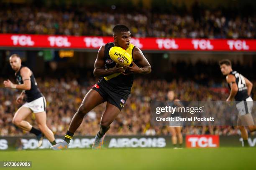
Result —
M 2 151 L 0 161 L 32 161 L 29 170 L 255 169 L 254 148 L 70 149 Z M 0 168 L 17 169 L 17 168 Z

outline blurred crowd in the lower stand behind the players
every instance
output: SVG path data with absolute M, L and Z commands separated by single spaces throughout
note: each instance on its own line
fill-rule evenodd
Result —
M 0 82 L 3 79 L 0 78 Z M 94 79 L 87 82 L 87 86 L 80 85 L 77 80 L 57 80 L 52 78 L 37 78 L 41 92 L 47 101 L 47 124 L 56 135 L 64 135 L 68 129 L 72 116 L 77 111 L 84 95 L 95 84 Z M 25 132 L 15 128 L 12 118 L 20 107 L 15 104 L 19 92 L 17 90 L 2 88 L 0 85 L 0 135 L 24 135 Z M 137 78 L 125 107 L 111 125 L 108 135 L 169 135 L 167 126 L 153 125 L 151 122 L 151 100 L 166 100 L 169 90 L 174 90 L 180 100 L 224 100 L 228 94 L 214 92 L 210 88 L 197 84 L 194 81 L 165 80 L 149 81 Z M 255 88 L 253 91 L 255 92 Z M 76 135 L 95 135 L 100 123 L 100 116 L 105 109 L 105 103 L 95 107 L 84 117 L 82 125 Z M 28 121 L 36 126 L 34 115 L 28 117 Z M 236 135 L 240 133 L 233 126 L 206 127 L 186 126 L 183 134 L 218 134 Z

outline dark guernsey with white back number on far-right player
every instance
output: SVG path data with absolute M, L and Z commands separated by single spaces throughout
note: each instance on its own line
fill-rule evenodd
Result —
M 236 84 L 238 87 L 238 92 L 236 93 L 235 100 L 236 101 L 243 101 L 248 98 L 248 91 L 247 91 L 247 86 L 246 82 L 243 78 L 243 75 L 238 73 L 237 71 L 232 71 L 229 74 L 234 75 L 236 77 Z M 230 85 L 228 84 L 229 89 L 231 90 Z

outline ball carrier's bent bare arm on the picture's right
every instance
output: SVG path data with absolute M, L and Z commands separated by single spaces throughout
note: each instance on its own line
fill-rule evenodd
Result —
M 123 66 L 125 70 L 128 70 L 129 73 L 137 74 L 148 74 L 151 72 L 151 65 L 138 47 L 134 47 L 133 58 L 137 64 L 132 62 L 133 65 L 131 67 L 125 65 Z

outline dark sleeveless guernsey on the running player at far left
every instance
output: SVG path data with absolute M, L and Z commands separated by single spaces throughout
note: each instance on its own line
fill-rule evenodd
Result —
M 25 67 L 25 66 L 21 65 L 20 70 L 21 70 L 22 67 Z M 18 82 L 19 85 L 23 84 L 23 80 L 22 80 L 22 77 L 20 75 L 20 70 L 15 74 L 16 81 Z M 26 97 L 27 97 L 27 99 L 26 99 L 27 102 L 31 102 L 31 101 L 36 100 L 36 99 L 43 96 L 42 93 L 40 92 L 40 90 L 37 87 L 36 79 L 35 79 L 32 71 L 31 71 L 31 73 L 32 73 L 31 76 L 30 76 L 31 88 L 30 88 L 30 90 L 25 90 L 25 94 L 26 94 Z

